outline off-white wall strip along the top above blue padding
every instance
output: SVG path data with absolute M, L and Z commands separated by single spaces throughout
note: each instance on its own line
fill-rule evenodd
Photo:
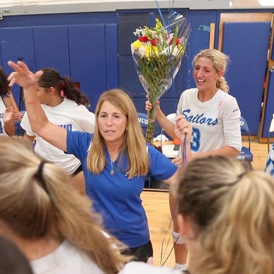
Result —
M 260 0 L 261 3 L 262 0 Z M 266 0 L 272 3 L 274 0 Z M 117 11 L 143 8 L 189 8 L 227 9 L 230 8 L 274 8 L 260 6 L 258 0 L 0 0 L 3 16 L 45 13 L 78 13 Z

